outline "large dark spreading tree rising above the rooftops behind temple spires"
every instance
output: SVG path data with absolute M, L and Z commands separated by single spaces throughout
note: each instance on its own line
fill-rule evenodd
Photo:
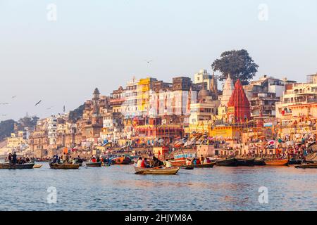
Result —
M 223 52 L 211 67 L 221 72 L 220 81 L 227 79 L 230 74 L 234 82 L 240 79 L 242 84 L 249 84 L 249 80 L 258 72 L 259 65 L 254 63 L 247 50 L 242 49 Z

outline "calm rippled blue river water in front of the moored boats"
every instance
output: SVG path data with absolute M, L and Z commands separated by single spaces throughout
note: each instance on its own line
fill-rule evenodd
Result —
M 0 210 L 317 210 L 317 169 L 213 167 L 135 175 L 130 165 L 0 169 Z M 268 188 L 268 204 L 259 188 Z M 47 203 L 55 187 L 57 203 Z

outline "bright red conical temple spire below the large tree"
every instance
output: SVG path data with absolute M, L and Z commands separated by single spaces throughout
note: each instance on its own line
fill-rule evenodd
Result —
M 235 108 L 232 112 L 235 122 L 247 122 L 250 120 L 250 103 L 244 92 L 240 79 L 238 79 L 235 83 L 235 89 L 229 99 L 228 107 Z

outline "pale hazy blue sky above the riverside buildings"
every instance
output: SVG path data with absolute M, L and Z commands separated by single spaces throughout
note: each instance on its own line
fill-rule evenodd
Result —
M 256 77 L 304 82 L 317 72 L 316 9 L 316 0 L 0 0 L 0 103 L 10 103 L 0 120 L 73 110 L 96 86 L 108 95 L 134 75 L 193 77 L 232 49 L 249 51 Z

